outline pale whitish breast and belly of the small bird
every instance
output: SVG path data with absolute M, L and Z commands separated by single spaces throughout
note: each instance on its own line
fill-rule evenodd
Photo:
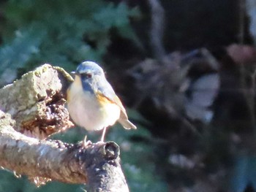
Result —
M 108 99 L 83 91 L 81 86 L 72 84 L 68 91 L 67 108 L 72 120 L 89 131 L 112 126 L 120 117 L 120 108 Z

